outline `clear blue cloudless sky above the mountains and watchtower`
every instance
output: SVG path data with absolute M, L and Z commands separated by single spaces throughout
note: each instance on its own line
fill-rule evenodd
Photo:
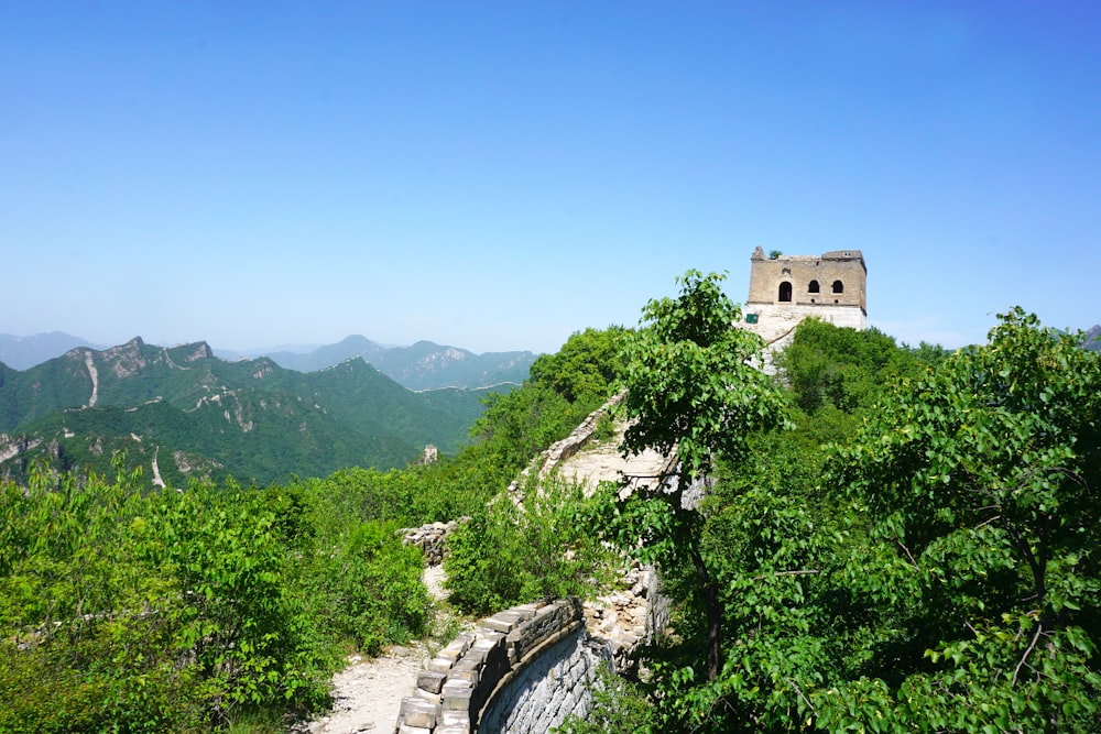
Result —
M 0 332 L 555 351 L 757 245 L 1101 321 L 1101 3 L 0 0 Z

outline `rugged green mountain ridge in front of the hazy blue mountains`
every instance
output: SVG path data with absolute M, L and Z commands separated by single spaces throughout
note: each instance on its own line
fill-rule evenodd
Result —
M 455 451 L 483 395 L 415 393 L 358 357 L 303 373 L 271 358 L 227 362 L 205 342 L 80 347 L 25 371 L 0 364 L 0 473 L 22 478 L 36 457 L 108 473 L 120 449 L 145 481 L 176 486 L 390 469 L 427 443 Z

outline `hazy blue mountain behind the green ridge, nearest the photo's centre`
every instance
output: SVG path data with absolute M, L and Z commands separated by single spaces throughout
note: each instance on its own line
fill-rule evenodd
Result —
M 220 351 L 219 354 L 231 355 Z M 536 357 L 527 351 L 475 354 L 430 341 L 418 341 L 411 347 L 383 347 L 358 335 L 305 353 L 279 350 L 259 351 L 252 355 L 270 357 L 280 366 L 298 372 L 315 372 L 360 357 L 410 390 L 519 385 L 527 379 Z

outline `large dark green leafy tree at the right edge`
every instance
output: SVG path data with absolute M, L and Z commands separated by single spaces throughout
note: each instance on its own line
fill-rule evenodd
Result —
M 838 452 L 864 662 L 809 694 L 820 727 L 1101 726 L 1101 360 L 1079 343 L 1016 308 Z

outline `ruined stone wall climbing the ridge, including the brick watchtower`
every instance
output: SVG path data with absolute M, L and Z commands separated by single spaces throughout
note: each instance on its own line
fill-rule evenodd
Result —
M 786 346 L 795 327 L 808 316 L 838 326 L 865 327 L 866 265 L 859 250 L 766 258 L 757 248 L 751 263 L 745 319 L 734 326 L 764 339 L 765 371 L 771 368 L 771 352 Z M 533 474 L 541 480 L 557 474 L 590 490 L 601 482 L 615 482 L 621 492 L 653 487 L 669 479 L 675 470 L 671 457 L 654 451 L 623 457 L 615 439 L 590 446 L 601 417 L 622 399 L 622 394 L 615 396 L 569 437 L 544 451 L 505 495 L 522 503 L 525 480 Z M 442 562 L 446 537 L 457 522 L 461 521 L 406 532 L 405 541 L 422 548 L 429 572 Z M 567 716 L 588 712 L 600 666 L 631 671 L 637 647 L 652 642 L 667 623 L 668 602 L 659 593 L 657 574 L 632 566 L 618 589 L 592 601 L 570 598 L 499 612 L 461 633 L 415 673 L 399 666 L 400 675 L 408 676 L 408 694 L 401 698 L 396 717 L 384 714 L 363 726 L 312 726 L 309 731 L 545 734 Z

